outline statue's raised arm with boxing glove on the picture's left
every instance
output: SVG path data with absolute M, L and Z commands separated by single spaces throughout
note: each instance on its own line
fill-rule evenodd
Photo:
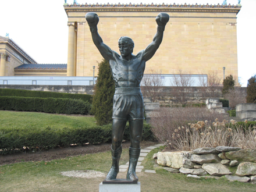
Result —
M 113 58 L 112 50 L 108 45 L 104 44 L 101 36 L 98 34 L 97 24 L 99 22 L 99 17 L 96 13 L 87 13 L 86 20 L 90 26 L 91 36 L 93 37 L 93 42 L 98 48 L 99 52 L 107 61 Z

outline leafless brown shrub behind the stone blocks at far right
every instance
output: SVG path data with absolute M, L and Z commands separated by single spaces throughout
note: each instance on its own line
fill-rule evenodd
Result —
M 225 99 L 229 100 L 229 106 L 234 109 L 238 104 L 246 103 L 246 93 L 244 93 L 241 87 L 234 87 L 230 89 L 225 95 Z

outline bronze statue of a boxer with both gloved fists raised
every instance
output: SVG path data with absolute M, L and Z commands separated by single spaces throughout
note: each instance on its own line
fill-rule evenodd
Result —
M 162 42 L 165 25 L 169 21 L 167 13 L 159 13 L 156 17 L 158 24 L 151 44 L 143 51 L 133 55 L 134 42 L 129 37 L 118 40 L 119 55 L 109 48 L 98 34 L 99 17 L 96 13 L 87 13 L 86 20 L 90 26 L 93 42 L 104 59 L 109 61 L 113 79 L 115 80 L 115 95 L 113 97 L 112 124 L 112 166 L 106 180 L 116 179 L 119 172 L 119 159 L 122 153 L 122 138 L 127 120 L 130 126 L 129 169 L 127 180 L 138 180 L 136 165 L 140 156 L 140 141 L 143 132 L 144 107 L 140 90 L 140 81 L 145 70 L 145 62 L 150 60 Z

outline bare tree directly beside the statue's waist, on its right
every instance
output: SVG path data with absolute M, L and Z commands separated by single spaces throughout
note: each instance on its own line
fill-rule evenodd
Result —
M 162 72 L 154 69 L 146 70 L 141 80 L 141 91 L 146 97 L 152 98 L 155 102 L 157 97 L 162 94 L 162 86 L 165 79 L 161 76 Z

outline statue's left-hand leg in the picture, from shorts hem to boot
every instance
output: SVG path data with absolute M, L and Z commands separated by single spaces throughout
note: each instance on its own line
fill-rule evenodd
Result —
M 107 180 L 116 179 L 119 173 L 119 159 L 122 154 L 122 140 L 123 132 L 125 131 L 126 120 L 123 119 L 113 119 L 112 124 L 112 145 L 111 145 L 111 155 L 112 155 L 112 166 L 106 176 Z

